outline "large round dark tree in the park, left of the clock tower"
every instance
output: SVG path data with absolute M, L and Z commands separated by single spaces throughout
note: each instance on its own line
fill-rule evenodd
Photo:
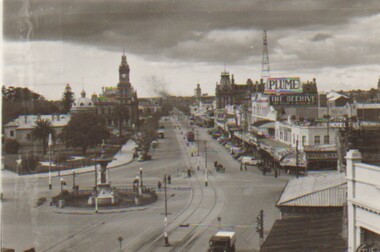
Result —
M 93 113 L 73 115 L 62 131 L 62 138 L 66 146 L 80 147 L 83 154 L 86 153 L 88 147 L 100 144 L 109 136 L 110 133 L 104 119 Z

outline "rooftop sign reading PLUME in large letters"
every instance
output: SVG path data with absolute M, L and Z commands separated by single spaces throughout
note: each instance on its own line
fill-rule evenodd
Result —
M 268 78 L 264 93 L 272 95 L 303 93 L 303 88 L 299 77 Z

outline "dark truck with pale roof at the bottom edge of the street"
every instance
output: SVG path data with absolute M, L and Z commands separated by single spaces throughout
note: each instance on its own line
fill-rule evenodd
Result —
M 235 252 L 236 233 L 218 231 L 210 238 L 208 252 Z

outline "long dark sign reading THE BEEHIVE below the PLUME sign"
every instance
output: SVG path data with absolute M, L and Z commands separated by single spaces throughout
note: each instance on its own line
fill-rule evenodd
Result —
M 270 105 L 297 105 L 297 106 L 316 106 L 316 94 L 295 94 L 295 95 L 271 95 Z

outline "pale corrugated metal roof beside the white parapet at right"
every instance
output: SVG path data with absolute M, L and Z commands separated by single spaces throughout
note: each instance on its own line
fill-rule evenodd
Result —
M 346 202 L 347 183 L 344 173 L 292 179 L 288 182 L 278 207 L 340 207 Z

